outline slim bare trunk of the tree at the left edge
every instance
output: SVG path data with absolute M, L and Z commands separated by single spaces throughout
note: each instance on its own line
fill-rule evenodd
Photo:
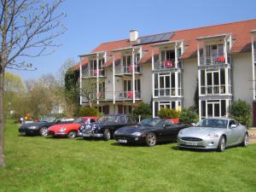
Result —
M 4 154 L 3 154 L 3 79 L 4 72 L 0 73 L 0 167 L 4 167 Z

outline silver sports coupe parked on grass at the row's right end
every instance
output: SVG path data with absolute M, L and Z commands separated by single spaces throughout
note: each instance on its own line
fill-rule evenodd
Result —
M 202 119 L 193 127 L 179 131 L 177 145 L 179 148 L 217 149 L 249 144 L 247 127 L 234 119 Z

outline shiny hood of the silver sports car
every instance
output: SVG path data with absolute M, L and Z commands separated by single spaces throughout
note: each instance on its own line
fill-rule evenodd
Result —
M 223 133 L 224 128 L 212 128 L 212 127 L 189 127 L 182 130 L 180 137 L 206 137 L 212 133 Z

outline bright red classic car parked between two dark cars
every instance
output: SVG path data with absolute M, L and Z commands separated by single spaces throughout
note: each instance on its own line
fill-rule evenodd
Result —
M 72 124 L 52 125 L 47 131 L 47 135 L 52 137 L 77 137 L 82 124 L 90 124 L 97 121 L 97 117 L 86 116 L 75 119 Z

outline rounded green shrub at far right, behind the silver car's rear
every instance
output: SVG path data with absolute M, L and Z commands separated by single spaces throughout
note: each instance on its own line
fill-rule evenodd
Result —
M 236 119 L 242 125 L 252 125 L 252 108 L 247 102 L 238 100 L 233 102 L 229 108 L 230 118 Z

